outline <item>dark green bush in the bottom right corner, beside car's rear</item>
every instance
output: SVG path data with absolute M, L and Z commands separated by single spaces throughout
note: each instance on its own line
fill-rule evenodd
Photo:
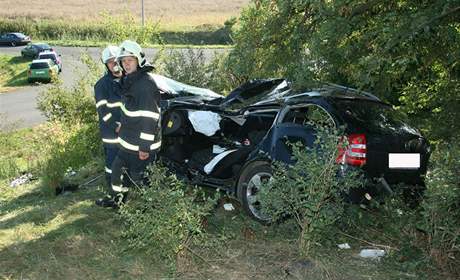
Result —
M 458 143 L 441 143 L 438 147 L 442 149 L 431 157 L 425 180 L 427 188 L 418 208 L 408 207 L 403 188 L 395 188 L 395 194 L 386 197 L 383 203 L 364 209 L 348 207 L 341 228 L 348 236 L 383 246 L 390 253 L 388 261 L 398 267 L 420 273 L 436 264 L 457 279 L 460 276 L 460 147 Z

